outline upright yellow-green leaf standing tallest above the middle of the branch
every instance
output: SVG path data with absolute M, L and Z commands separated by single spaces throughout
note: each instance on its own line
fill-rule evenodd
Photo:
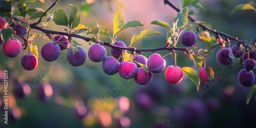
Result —
M 120 8 L 117 6 L 116 11 L 113 16 L 113 32 L 116 35 L 124 25 L 124 17 Z

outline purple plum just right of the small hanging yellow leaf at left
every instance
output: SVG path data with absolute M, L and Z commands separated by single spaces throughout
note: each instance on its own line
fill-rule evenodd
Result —
M 60 47 L 58 44 L 54 44 L 53 42 L 47 42 L 41 48 L 41 56 L 46 61 L 54 61 L 60 55 Z

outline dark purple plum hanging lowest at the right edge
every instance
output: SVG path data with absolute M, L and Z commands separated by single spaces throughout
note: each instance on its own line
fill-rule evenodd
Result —
M 251 87 L 255 81 L 254 73 L 241 69 L 238 73 L 238 81 L 244 87 Z

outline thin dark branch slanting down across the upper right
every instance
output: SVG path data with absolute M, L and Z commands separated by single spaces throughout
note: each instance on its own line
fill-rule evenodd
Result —
M 170 7 L 172 7 L 174 10 L 176 10 L 177 12 L 180 12 L 181 10 L 180 9 L 178 9 L 176 6 L 174 6 L 172 3 L 170 3 L 168 0 L 164 0 L 164 4 L 167 4 L 167 5 L 169 5 Z M 196 19 L 194 19 L 194 18 L 192 18 L 191 16 L 187 16 L 192 22 L 196 22 L 197 20 Z M 232 39 L 232 40 L 237 40 L 238 42 L 239 42 L 239 44 L 244 44 L 244 46 L 247 46 L 246 44 L 245 44 L 245 40 L 240 40 L 240 39 L 238 39 L 237 37 L 233 37 L 233 36 L 230 36 L 230 35 L 228 35 L 228 34 L 226 34 L 226 33 L 224 33 L 224 32 L 220 32 L 220 31 L 217 31 L 217 30 L 214 30 L 214 29 L 210 29 L 210 28 L 208 28 L 208 27 L 206 27 L 205 25 L 203 25 L 203 24 L 201 24 L 201 25 L 199 25 L 200 27 L 202 27 L 203 28 L 203 30 L 208 30 L 208 31 L 210 31 L 210 32 L 212 32 L 212 33 L 215 33 L 216 35 L 222 35 L 222 36 L 225 36 L 226 38 L 229 38 L 229 39 Z

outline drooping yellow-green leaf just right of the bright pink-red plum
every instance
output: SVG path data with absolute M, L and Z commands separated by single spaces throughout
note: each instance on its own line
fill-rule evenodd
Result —
M 183 67 L 181 68 L 182 71 L 190 78 L 197 86 L 197 91 L 199 90 L 199 84 L 200 84 L 200 79 L 198 77 L 198 73 L 195 69 L 190 68 L 190 67 Z

